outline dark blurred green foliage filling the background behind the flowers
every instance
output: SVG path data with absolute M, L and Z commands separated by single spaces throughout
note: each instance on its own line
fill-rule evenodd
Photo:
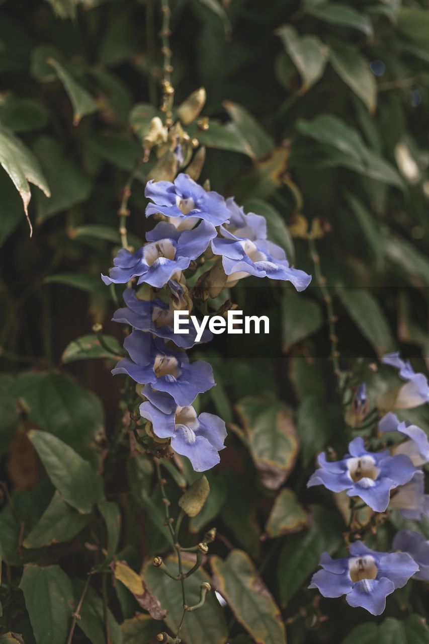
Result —
M 149 643 L 159 630 L 174 630 L 180 592 L 174 582 L 162 585 L 167 578 L 150 566 L 151 556 L 171 550 L 159 489 L 151 460 L 130 455 L 123 382 L 111 377 L 111 356 L 94 348 L 91 328 L 101 323 L 111 346 L 122 343 L 124 330 L 110 322 L 121 289 L 105 287 L 100 272 L 120 247 L 117 211 L 142 158 L 150 119 L 135 106 L 155 115 L 162 99 L 160 6 L 9 0 L 0 11 L 0 154 L 2 160 L 8 154 L 7 137 L 19 138 L 52 193 L 46 198 L 32 187 L 30 238 L 19 193 L 0 173 L 0 623 L 26 644 L 66 641 L 72 608 L 59 606 L 64 598 L 79 601 L 88 571 L 110 544 L 108 559 L 114 554 L 135 571 L 149 562 L 145 581 L 170 618 L 166 626 L 136 620 L 139 607 L 126 586 L 102 573 L 91 580 L 73 641 L 106 641 L 108 619 L 111 641 Z M 228 632 L 235 644 L 281 644 L 284 621 L 290 644 L 428 642 L 422 583 L 388 598 L 386 614 L 373 620 L 343 600 L 320 600 L 306 590 L 321 551 L 341 553 L 347 523 L 329 493 L 307 491 L 305 482 L 316 453 L 328 446 L 343 453 L 352 432 L 332 352 L 350 373 L 349 393 L 365 381 L 372 406 L 389 386 L 388 370 L 377 368 L 383 353 L 401 345 L 416 366 L 424 370 L 427 361 L 429 7 L 412 0 L 171 0 L 171 12 L 175 105 L 200 86 L 207 92 L 209 129 L 188 128 L 207 147 L 200 182 L 209 179 L 212 189 L 264 214 L 271 238 L 314 276 L 300 296 L 254 278 L 240 283 L 231 297 L 247 314 L 268 314 L 270 335 L 240 342 L 220 336 L 193 352 L 211 362 L 218 383 L 200 408 L 224 418 L 229 439 L 208 475 L 210 502 L 186 523 L 183 540 L 192 545 L 215 525 L 210 553 L 225 559 L 230 549 L 231 557 L 244 551 L 251 576 L 240 577 L 236 560 L 229 560 L 229 576 L 220 560 L 207 562 L 199 581 L 217 574 L 244 600 L 229 598 L 220 609 L 213 598 L 200 618 L 189 616 L 184 640 L 220 644 Z M 144 183 L 155 161 L 152 154 L 132 185 L 127 225 L 134 247 L 153 226 L 144 217 Z M 315 247 L 307 229 L 319 231 Z M 316 279 L 316 253 L 323 279 Z M 77 346 L 82 336 L 91 337 Z M 424 426 L 428 413 L 414 414 Z M 96 493 L 93 511 L 73 509 L 85 495 L 79 489 L 64 495 L 68 461 L 65 480 L 50 482 L 28 438 L 32 428 L 91 464 L 84 489 L 97 488 L 91 478 L 97 472 L 107 509 Z M 169 469 L 176 507 L 180 487 L 194 475 L 184 459 Z M 54 488 L 68 503 L 60 499 L 53 524 L 34 536 Z M 372 535 L 373 545 L 388 549 L 400 525 L 392 514 Z M 427 522 L 418 529 L 429 537 Z M 21 581 L 20 589 L 28 562 L 54 567 L 34 569 L 43 579 Z M 256 569 L 272 594 L 268 605 L 252 594 Z M 45 586 L 54 588 L 51 594 Z M 33 611 L 37 623 L 30 624 L 37 592 L 43 611 Z M 271 615 L 265 634 L 255 605 Z M 353 630 L 362 621 L 368 623 Z M 46 635 L 52 623 L 54 634 Z

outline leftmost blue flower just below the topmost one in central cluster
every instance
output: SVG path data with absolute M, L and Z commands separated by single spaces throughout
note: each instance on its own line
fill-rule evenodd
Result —
M 170 223 L 160 222 L 146 234 L 149 243 L 137 252 L 120 249 L 110 275 L 102 275 L 105 284 L 124 284 L 138 277 L 138 284 L 146 282 L 160 289 L 171 278 L 180 277 L 191 260 L 196 260 L 216 236 L 211 223 L 201 222 L 193 230 L 178 231 Z

